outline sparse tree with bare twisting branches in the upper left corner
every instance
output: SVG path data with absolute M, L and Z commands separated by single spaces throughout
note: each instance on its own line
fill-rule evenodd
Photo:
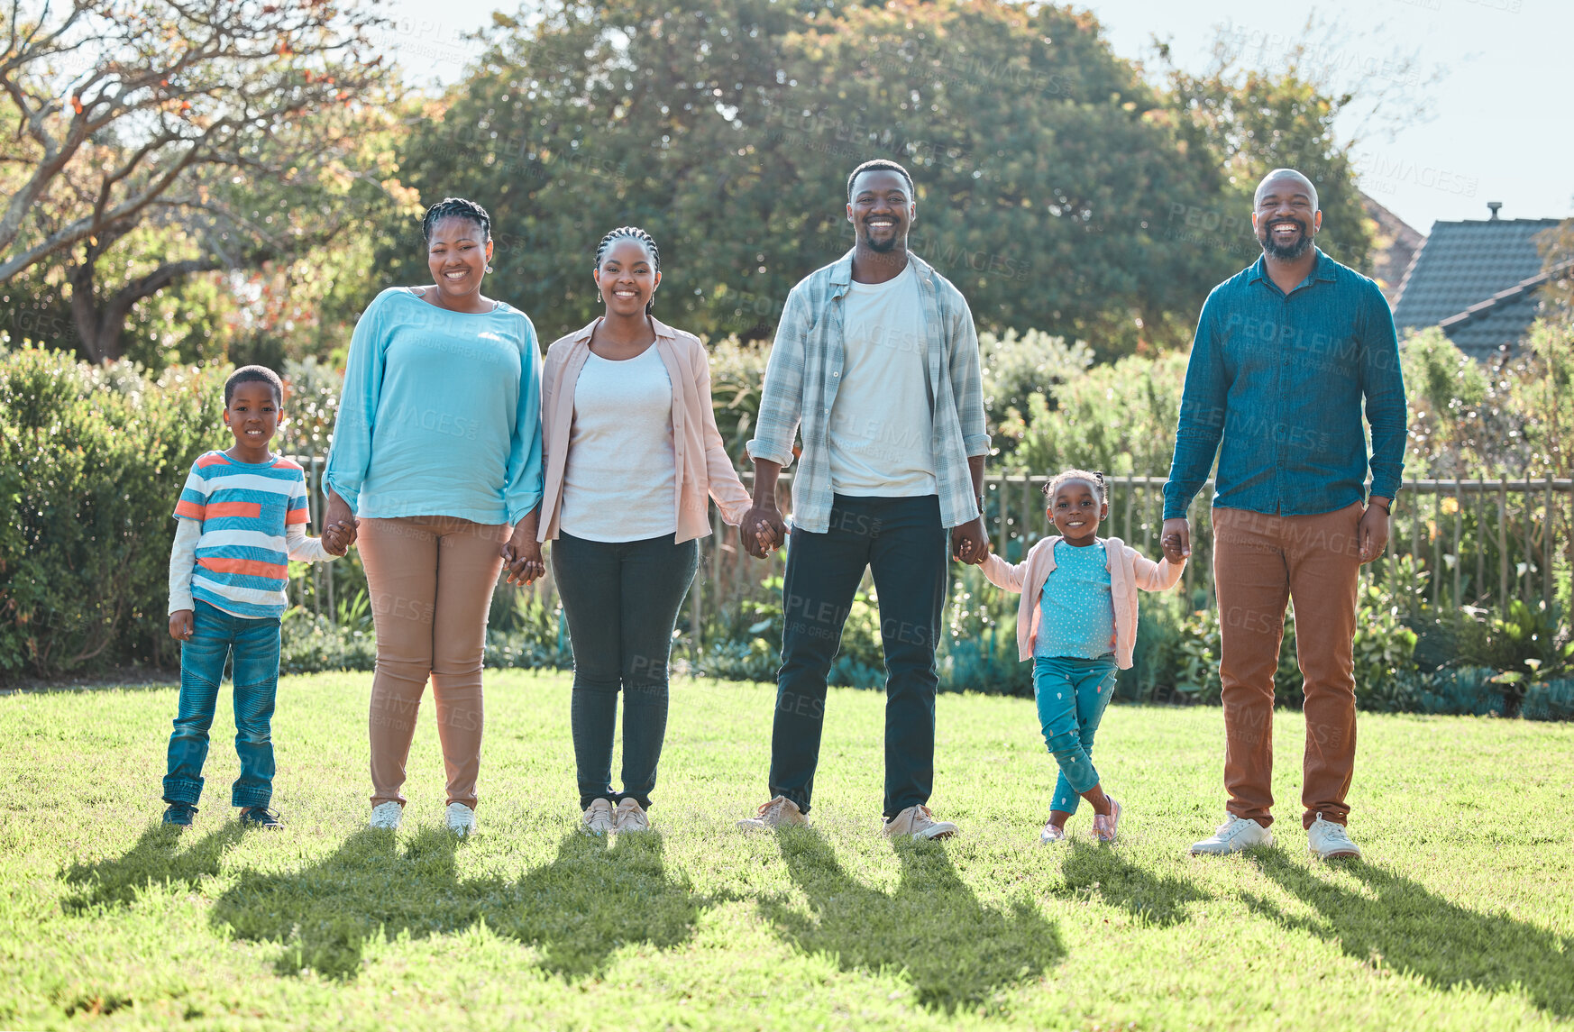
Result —
M 0 282 L 42 269 L 109 360 L 143 297 L 332 238 L 386 194 L 359 160 L 387 82 L 362 57 L 376 24 L 323 0 L 13 0 Z

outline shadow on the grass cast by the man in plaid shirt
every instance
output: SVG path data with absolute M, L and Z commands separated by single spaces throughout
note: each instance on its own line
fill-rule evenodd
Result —
M 842 971 L 905 972 L 932 1010 L 993 1008 L 998 990 L 1042 974 L 1066 952 L 1031 903 L 1017 901 L 1009 914 L 979 903 L 938 843 L 894 846 L 902 864 L 894 894 L 848 876 L 814 829 L 784 829 L 778 843 L 811 912 L 778 897 L 760 901 L 762 914 Z

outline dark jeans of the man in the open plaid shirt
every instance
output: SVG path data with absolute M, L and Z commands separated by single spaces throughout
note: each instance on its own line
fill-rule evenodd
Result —
M 935 782 L 935 642 L 949 547 L 940 499 L 836 496 L 826 533 L 793 527 L 782 582 L 782 665 L 771 728 L 771 796 L 804 813 L 825 724 L 825 678 L 864 568 L 880 596 L 886 661 L 885 815 L 929 802 Z

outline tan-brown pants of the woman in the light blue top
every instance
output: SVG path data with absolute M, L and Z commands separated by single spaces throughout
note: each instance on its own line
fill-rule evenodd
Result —
M 431 678 L 449 802 L 475 805 L 486 609 L 508 527 L 455 516 L 362 519 L 378 669 L 371 678 L 371 805 L 405 802 L 405 761 Z

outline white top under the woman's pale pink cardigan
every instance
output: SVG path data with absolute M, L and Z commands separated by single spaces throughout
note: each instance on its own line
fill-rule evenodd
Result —
M 575 382 L 559 527 L 587 541 L 677 533 L 672 378 L 656 352 L 614 362 L 592 352 Z

